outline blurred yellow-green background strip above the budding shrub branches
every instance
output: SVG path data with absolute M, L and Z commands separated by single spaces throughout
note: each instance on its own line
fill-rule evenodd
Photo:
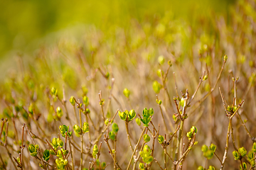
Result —
M 195 15 L 207 13 L 228 16 L 231 0 L 9 0 L 0 1 L 0 60 L 17 52 L 35 50 L 39 39 L 78 24 L 90 24 L 103 32 L 109 26 L 128 27 L 131 18 L 138 21 L 164 16 L 166 11 L 174 18 L 193 22 Z

